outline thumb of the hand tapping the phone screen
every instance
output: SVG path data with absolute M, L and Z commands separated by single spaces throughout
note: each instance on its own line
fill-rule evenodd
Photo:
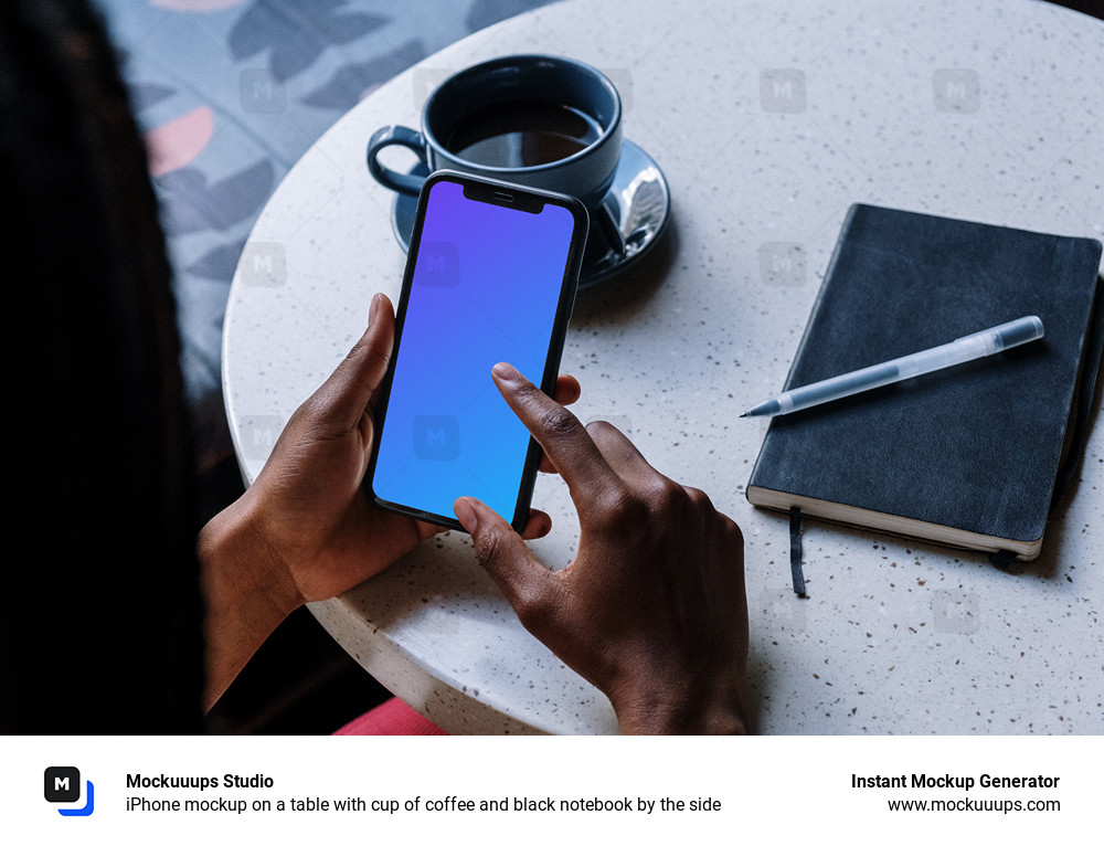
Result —
M 553 603 L 556 574 L 537 560 L 510 524 L 478 499 L 460 497 L 453 510 L 471 536 L 479 563 L 529 627 L 533 616 Z

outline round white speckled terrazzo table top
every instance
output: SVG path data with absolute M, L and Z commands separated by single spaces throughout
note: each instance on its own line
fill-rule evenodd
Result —
M 572 0 L 425 60 L 302 157 L 245 247 L 223 380 L 246 478 L 360 335 L 372 295 L 397 299 L 405 256 L 393 198 L 364 167 L 369 135 L 416 126 L 452 71 L 521 52 L 606 70 L 625 137 L 670 184 L 665 240 L 580 294 L 563 370 L 582 382 L 582 419 L 613 421 L 743 528 L 757 729 L 1104 731 L 1100 421 L 1042 557 L 1008 573 L 809 524 L 800 601 L 785 519 L 743 493 L 766 423 L 737 415 L 785 380 L 851 203 L 1104 236 L 1104 23 L 1047 3 Z M 534 548 L 561 567 L 577 521 L 560 479 L 542 478 L 534 505 L 555 521 Z M 605 698 L 520 626 L 466 536 L 311 610 L 448 731 L 616 730 Z

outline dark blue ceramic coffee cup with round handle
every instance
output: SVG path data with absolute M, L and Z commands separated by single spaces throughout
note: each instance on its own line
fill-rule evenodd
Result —
M 422 130 L 385 126 L 368 142 L 368 169 L 416 195 L 425 177 L 380 163 L 380 150 L 413 150 L 428 172 L 448 168 L 578 198 L 594 209 L 622 147 L 620 97 L 599 71 L 572 59 L 513 55 L 443 82 L 422 109 Z

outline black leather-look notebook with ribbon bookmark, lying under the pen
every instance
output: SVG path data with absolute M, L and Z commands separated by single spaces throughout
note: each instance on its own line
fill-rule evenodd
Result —
M 1070 450 L 1068 429 L 1089 420 L 1079 419 L 1074 396 L 1091 402 L 1094 378 L 1086 377 L 1100 366 L 1100 261 L 1101 243 L 1091 239 L 853 205 L 785 389 L 1027 315 L 1042 318 L 1045 335 L 774 417 L 747 499 L 956 547 L 1038 556 Z M 1079 380 L 1087 391 L 1079 391 Z

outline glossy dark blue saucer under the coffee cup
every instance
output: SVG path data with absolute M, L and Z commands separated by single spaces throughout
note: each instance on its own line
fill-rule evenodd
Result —
M 418 162 L 410 172 L 427 176 L 429 171 Z M 411 245 L 416 211 L 416 197 L 395 194 L 391 225 L 403 252 Z M 659 166 L 631 141 L 622 141 L 613 184 L 601 207 L 591 212 L 578 287 L 608 279 L 646 255 L 659 241 L 670 212 L 671 194 Z

